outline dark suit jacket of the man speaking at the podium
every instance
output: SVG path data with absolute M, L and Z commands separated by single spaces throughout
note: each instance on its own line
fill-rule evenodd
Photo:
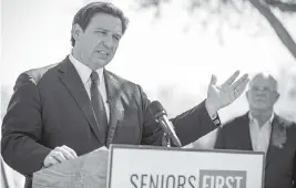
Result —
M 163 130 L 142 88 L 106 70 L 104 76 L 111 112 L 106 145 L 161 145 Z M 172 121 L 183 145 L 216 127 L 204 102 Z M 1 154 L 27 180 L 54 147 L 67 145 L 80 156 L 102 143 L 90 98 L 69 58 L 18 77 L 2 123 Z

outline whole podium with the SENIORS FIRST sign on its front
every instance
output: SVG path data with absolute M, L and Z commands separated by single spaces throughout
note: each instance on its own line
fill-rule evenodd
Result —
M 263 188 L 264 153 L 111 145 L 33 174 L 33 188 Z

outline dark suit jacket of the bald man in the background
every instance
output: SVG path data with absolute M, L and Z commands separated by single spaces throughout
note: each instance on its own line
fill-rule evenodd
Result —
M 215 148 L 253 150 L 248 113 L 220 129 Z M 275 114 L 265 160 L 265 188 L 292 188 L 292 181 L 296 180 L 295 154 L 296 125 Z

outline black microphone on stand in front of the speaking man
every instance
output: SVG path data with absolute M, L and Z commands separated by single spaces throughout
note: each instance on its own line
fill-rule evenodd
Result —
M 167 115 L 160 102 L 154 101 L 150 104 L 150 111 L 155 121 L 161 124 L 165 134 L 172 139 L 173 144 L 177 147 L 182 147 L 182 144 L 176 136 L 173 124 L 169 121 Z

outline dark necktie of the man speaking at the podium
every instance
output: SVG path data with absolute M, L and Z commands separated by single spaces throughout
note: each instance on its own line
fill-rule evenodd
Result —
M 92 83 L 91 83 L 91 103 L 92 103 L 93 112 L 94 112 L 95 117 L 96 117 L 96 123 L 98 123 L 99 129 L 102 130 L 102 134 L 103 134 L 102 137 L 103 137 L 103 140 L 105 142 L 106 130 L 108 130 L 108 121 L 106 121 L 104 102 L 103 102 L 102 95 L 100 94 L 100 91 L 99 91 L 100 77 L 95 71 L 93 71 L 91 73 L 91 80 L 92 80 Z

